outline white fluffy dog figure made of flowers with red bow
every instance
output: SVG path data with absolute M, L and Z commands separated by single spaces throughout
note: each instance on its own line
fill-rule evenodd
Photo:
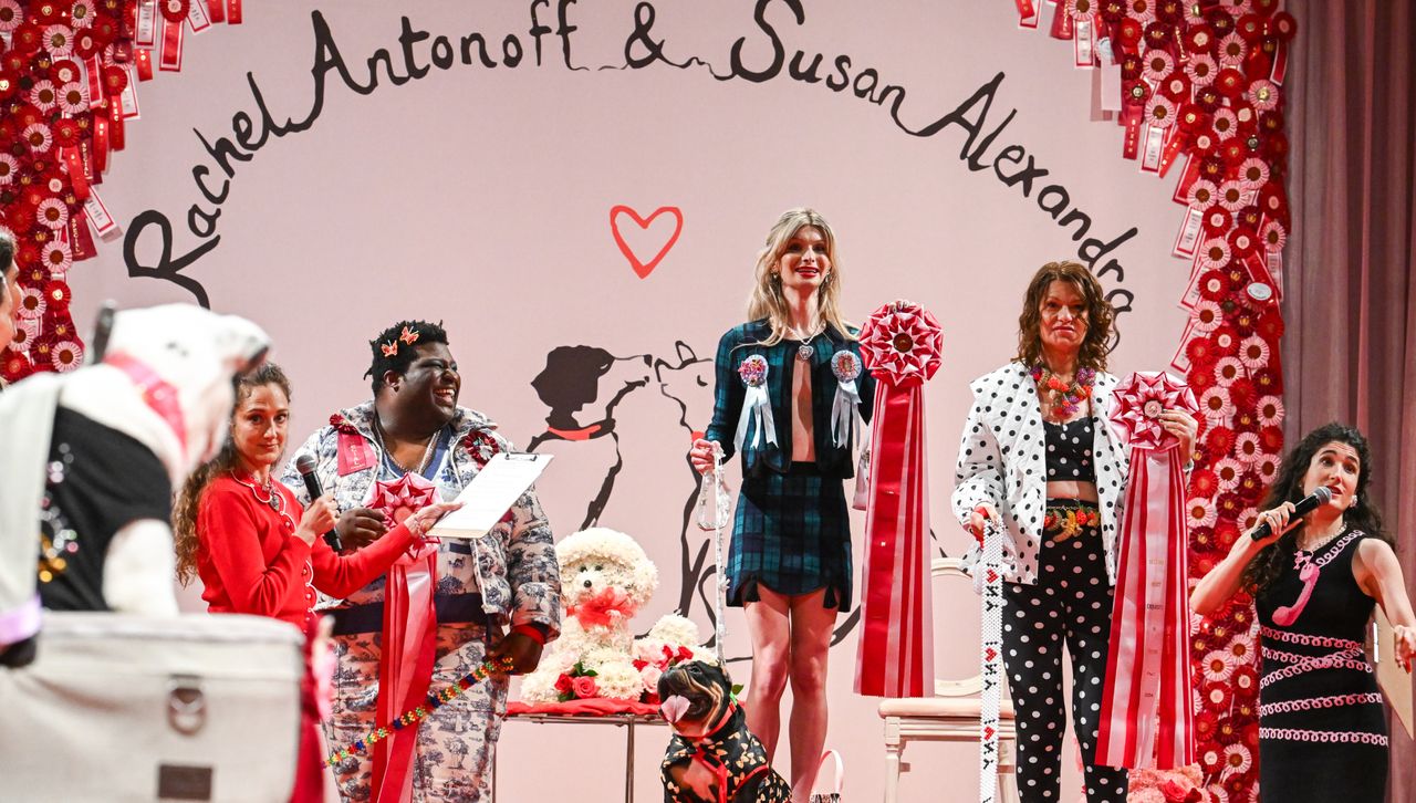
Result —
M 521 681 L 525 702 L 555 702 L 556 681 L 576 664 L 595 673 L 598 697 L 639 701 L 656 693 L 664 649 L 692 654 L 698 627 L 677 615 L 663 616 L 643 639 L 630 619 L 658 588 L 658 569 L 629 535 L 592 527 L 555 545 L 561 564 L 565 619 L 561 637 L 541 666 Z M 636 667 L 639 660 L 643 668 Z

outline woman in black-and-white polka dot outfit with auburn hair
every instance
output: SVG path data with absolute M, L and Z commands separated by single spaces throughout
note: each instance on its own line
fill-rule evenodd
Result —
M 970 385 L 974 402 L 959 446 L 959 523 L 980 544 L 986 518 L 1004 525 L 1003 660 L 1017 711 L 1024 803 L 1061 795 L 1063 646 L 1072 660 L 1086 797 L 1126 800 L 1126 770 L 1093 761 L 1127 472 L 1126 446 L 1107 425 L 1117 384 L 1106 372 L 1112 316 L 1083 265 L 1044 265 L 1024 297 L 1017 355 Z M 1195 419 L 1180 411 L 1161 419 L 1188 455 Z M 964 566 L 978 555 L 974 547 Z

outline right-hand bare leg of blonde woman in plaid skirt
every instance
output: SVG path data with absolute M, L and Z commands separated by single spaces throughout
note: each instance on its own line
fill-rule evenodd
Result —
M 792 598 L 792 800 L 807 803 L 826 745 L 826 664 L 835 608 L 826 589 Z

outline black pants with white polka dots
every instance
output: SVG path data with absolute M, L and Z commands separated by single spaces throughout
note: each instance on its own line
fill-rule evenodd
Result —
M 1003 663 L 1018 715 L 1018 792 L 1022 803 L 1056 803 L 1061 797 L 1065 642 L 1072 657 L 1072 725 L 1082 744 L 1087 803 L 1124 803 L 1126 770 L 1092 763 L 1112 632 L 1102 537 L 1085 528 L 1065 541 L 1044 538 L 1038 565 L 1037 585 L 1010 583 L 1003 606 Z M 1068 761 L 1075 759 L 1068 755 Z

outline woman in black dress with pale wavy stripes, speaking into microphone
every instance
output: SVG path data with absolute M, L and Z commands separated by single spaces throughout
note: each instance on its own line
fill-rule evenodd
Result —
M 1369 466 L 1357 429 L 1328 423 L 1310 432 L 1283 462 L 1255 524 L 1273 534 L 1240 537 L 1191 595 L 1194 610 L 1208 616 L 1240 588 L 1255 593 L 1266 803 L 1379 803 L 1386 795 L 1386 715 L 1362 639 L 1381 603 L 1396 660 L 1410 671 L 1416 616 L 1368 490 Z M 1332 499 L 1296 517 L 1294 504 L 1321 486 Z

